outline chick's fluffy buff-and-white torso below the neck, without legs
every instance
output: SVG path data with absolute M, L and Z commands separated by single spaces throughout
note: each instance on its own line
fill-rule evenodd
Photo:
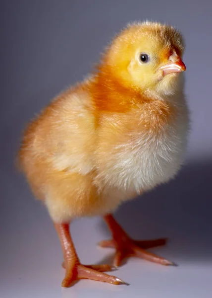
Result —
M 169 180 L 183 160 L 181 93 L 99 115 L 89 83 L 60 95 L 28 128 L 22 148 L 35 194 L 58 222 L 112 212 Z

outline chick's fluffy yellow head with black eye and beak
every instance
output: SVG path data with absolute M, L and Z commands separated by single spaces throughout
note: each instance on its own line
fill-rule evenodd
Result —
M 144 22 L 129 25 L 106 51 L 110 73 L 125 87 L 171 94 L 186 70 L 184 43 L 179 31 L 168 25 Z

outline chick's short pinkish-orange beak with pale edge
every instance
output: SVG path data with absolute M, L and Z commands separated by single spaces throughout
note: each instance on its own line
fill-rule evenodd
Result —
M 165 76 L 166 74 L 185 72 L 185 64 L 175 53 L 170 55 L 168 60 L 170 61 L 170 63 L 165 64 L 159 68 L 159 70 L 162 71 L 163 76 Z

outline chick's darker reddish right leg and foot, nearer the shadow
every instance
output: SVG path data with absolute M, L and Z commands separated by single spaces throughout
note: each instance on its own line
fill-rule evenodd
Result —
M 119 266 L 121 261 L 129 256 L 143 258 L 161 265 L 174 265 L 174 263 L 145 250 L 147 248 L 164 245 L 166 243 L 165 238 L 141 241 L 133 240 L 115 221 L 112 215 L 106 215 L 104 219 L 112 233 L 112 239 L 103 240 L 99 245 L 102 247 L 114 247 L 116 249 L 113 261 L 114 266 Z

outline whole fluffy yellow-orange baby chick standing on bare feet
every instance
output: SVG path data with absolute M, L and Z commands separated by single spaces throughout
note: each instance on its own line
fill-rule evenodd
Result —
M 128 25 L 97 70 L 57 96 L 26 129 L 19 163 L 57 231 L 63 287 L 81 278 L 124 284 L 103 272 L 109 265 L 80 263 L 69 232 L 79 217 L 104 217 L 112 239 L 100 245 L 116 249 L 114 266 L 132 255 L 173 265 L 146 251 L 165 239 L 133 240 L 111 213 L 174 177 L 183 162 L 189 122 L 183 49 L 174 27 Z

